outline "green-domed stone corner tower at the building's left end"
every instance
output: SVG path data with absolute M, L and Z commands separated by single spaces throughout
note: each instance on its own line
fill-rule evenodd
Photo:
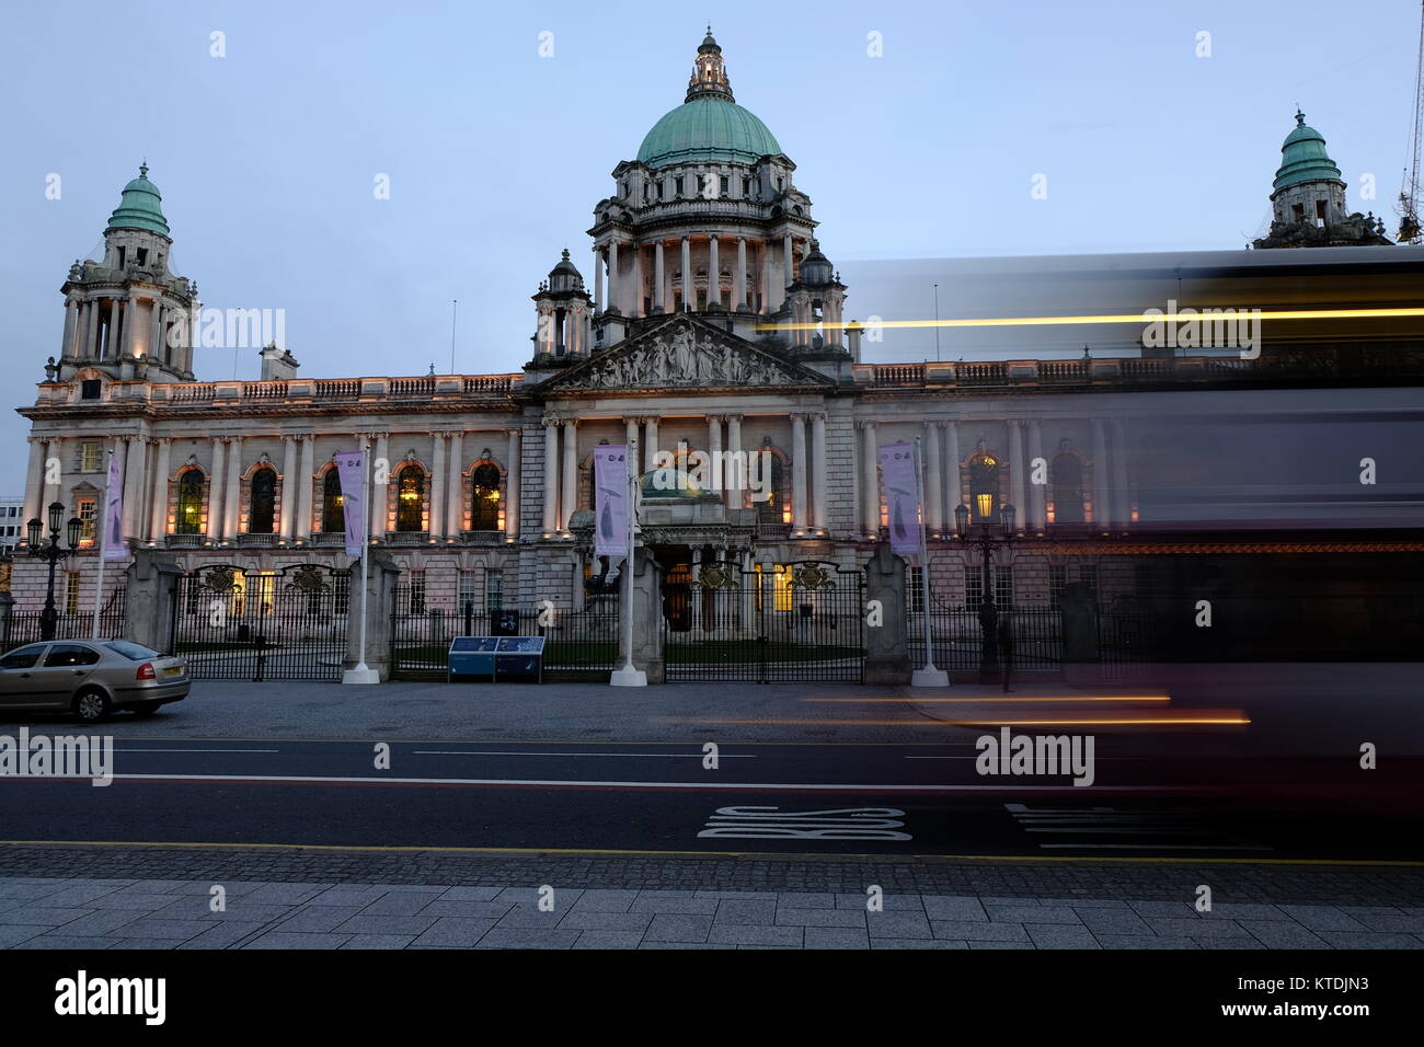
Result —
M 198 285 L 169 268 L 172 238 L 148 165 L 124 187 L 104 226 L 104 254 L 70 266 L 64 336 L 50 373 L 60 380 L 191 382 L 189 322 Z

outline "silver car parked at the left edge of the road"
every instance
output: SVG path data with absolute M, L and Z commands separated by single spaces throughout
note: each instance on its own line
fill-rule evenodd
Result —
M 189 687 L 188 662 L 130 640 L 48 640 L 0 657 L 0 711 L 73 709 L 90 724 L 114 709 L 150 717 Z

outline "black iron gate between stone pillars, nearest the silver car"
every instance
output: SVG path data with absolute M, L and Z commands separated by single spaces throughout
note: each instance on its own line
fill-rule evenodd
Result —
M 221 564 L 178 577 L 172 651 L 195 679 L 340 681 L 350 571 Z

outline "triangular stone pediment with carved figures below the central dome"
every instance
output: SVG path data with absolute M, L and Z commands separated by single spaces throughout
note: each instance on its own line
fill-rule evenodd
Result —
M 547 392 L 783 389 L 829 386 L 824 376 L 695 316 L 675 316 L 570 368 Z

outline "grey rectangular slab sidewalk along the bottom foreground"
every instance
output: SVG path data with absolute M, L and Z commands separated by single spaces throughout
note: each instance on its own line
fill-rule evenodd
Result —
M 1424 949 L 1424 906 L 0 879 L 10 949 Z M 545 896 L 548 890 L 545 889 Z M 545 905 L 547 909 L 547 905 Z

